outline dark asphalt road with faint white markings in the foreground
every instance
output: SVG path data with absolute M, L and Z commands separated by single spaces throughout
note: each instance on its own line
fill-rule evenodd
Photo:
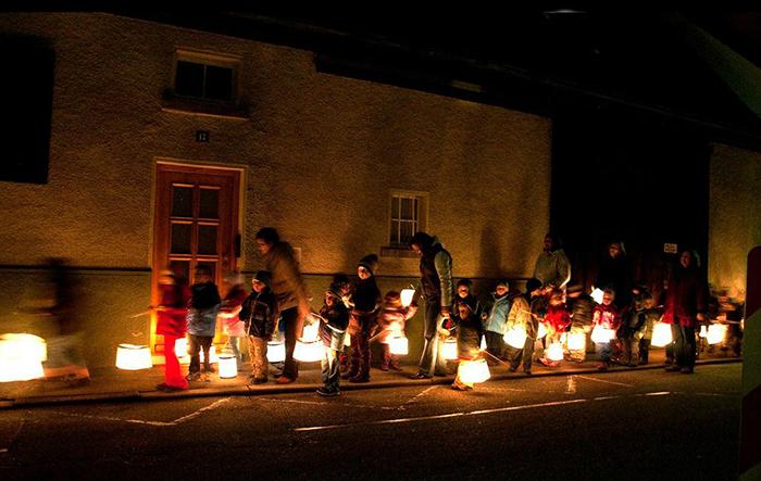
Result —
M 0 480 L 736 479 L 741 365 L 0 412 Z

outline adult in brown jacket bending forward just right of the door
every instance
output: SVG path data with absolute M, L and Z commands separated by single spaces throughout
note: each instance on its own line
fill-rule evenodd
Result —
M 282 241 L 273 227 L 263 227 L 257 232 L 257 249 L 266 260 L 266 269 L 272 275 L 272 292 L 277 311 L 285 325 L 286 359 L 278 384 L 294 382 L 299 368 L 294 359 L 296 340 L 301 334 L 303 320 L 309 315 L 309 295 L 301 278 L 294 248 Z

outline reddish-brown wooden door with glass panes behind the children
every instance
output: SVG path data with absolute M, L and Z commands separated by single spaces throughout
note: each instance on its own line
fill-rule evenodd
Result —
M 222 278 L 237 267 L 240 172 L 189 165 L 158 164 L 153 230 L 152 302 L 158 301 L 158 274 L 171 268 L 192 283 L 196 266 L 212 269 L 224 296 Z M 238 240 L 239 242 L 239 240 Z M 153 352 L 162 352 L 151 321 Z M 220 342 L 219 329 L 215 342 Z

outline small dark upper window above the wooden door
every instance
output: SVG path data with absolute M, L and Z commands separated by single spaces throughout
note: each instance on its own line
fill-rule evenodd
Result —
M 235 102 L 237 61 L 211 54 L 177 52 L 174 93 L 214 102 Z

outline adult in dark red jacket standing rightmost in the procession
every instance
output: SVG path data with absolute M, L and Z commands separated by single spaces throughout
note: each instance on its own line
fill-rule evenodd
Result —
M 695 370 L 695 329 L 706 321 L 708 282 L 700 271 L 698 254 L 683 250 L 669 279 L 663 321 L 671 324 L 674 337 L 674 364 L 668 371 L 693 374 Z

